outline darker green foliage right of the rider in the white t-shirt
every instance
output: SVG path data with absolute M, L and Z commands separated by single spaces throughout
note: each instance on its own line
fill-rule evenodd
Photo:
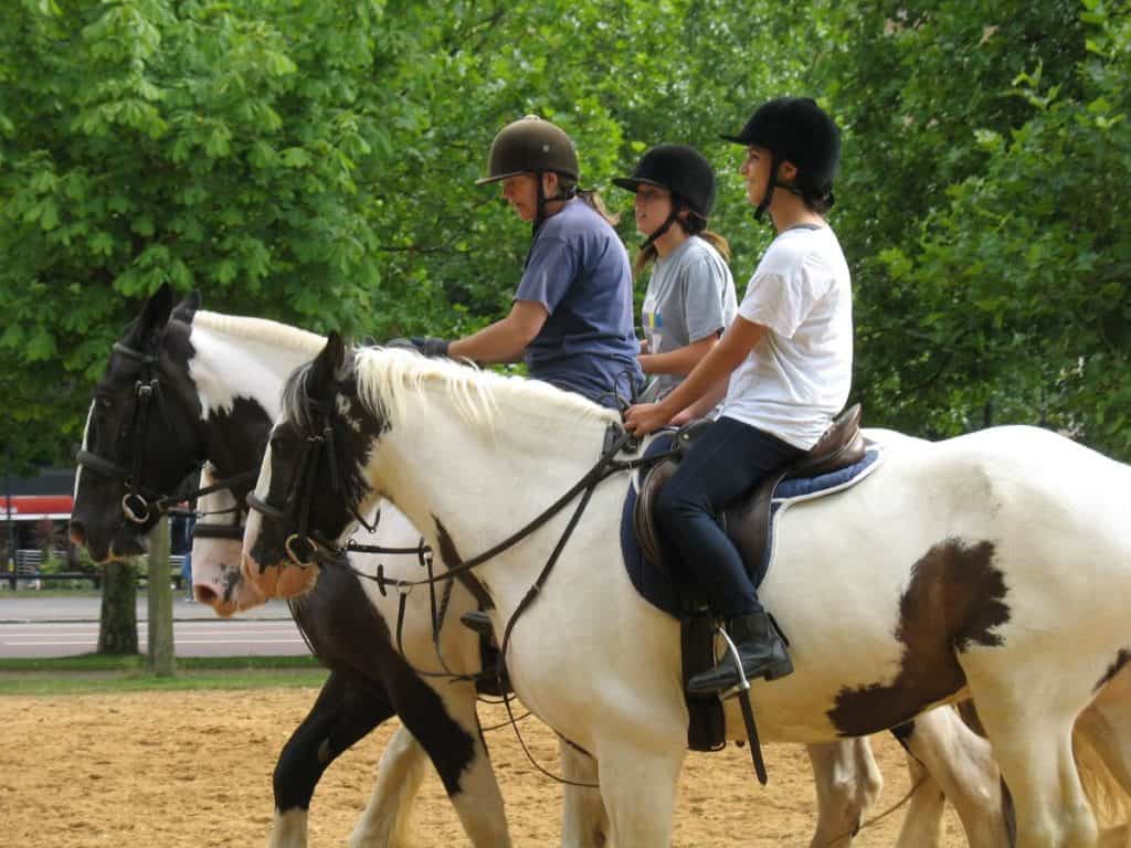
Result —
M 870 418 L 1131 457 L 1126 3 L 862 8 L 830 89 Z

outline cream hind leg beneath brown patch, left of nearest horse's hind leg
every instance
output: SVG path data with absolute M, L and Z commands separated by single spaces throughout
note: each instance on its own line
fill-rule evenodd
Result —
M 898 845 L 938 845 L 942 805 L 939 789 L 955 806 L 970 848 L 1009 848 L 1001 789 L 1001 772 L 993 758 L 990 743 L 970 730 L 949 707 L 930 710 L 912 722 L 910 733 L 900 738 L 908 756 L 926 769 L 933 786 L 924 785 L 913 798 L 913 807 L 904 822 L 908 831 L 914 820 L 921 832 L 907 832 L 906 842 L 900 832 Z M 915 768 L 912 768 L 913 779 Z M 915 799 L 923 795 L 922 808 Z M 932 823 L 932 824 L 929 824 Z M 923 841 L 927 832 L 933 841 Z

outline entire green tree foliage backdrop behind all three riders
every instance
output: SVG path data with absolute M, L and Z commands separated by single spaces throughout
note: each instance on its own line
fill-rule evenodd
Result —
M 498 318 L 528 230 L 474 181 L 527 113 L 575 137 L 586 187 L 653 144 L 703 149 L 741 288 L 771 232 L 717 136 L 808 93 L 845 129 L 832 223 L 869 423 L 1044 423 L 1129 458 L 1129 17 L 1126 0 L 19 0 L 0 19 L 0 438 L 19 459 L 77 439 L 109 340 L 166 280 L 375 338 Z M 605 199 L 634 244 L 630 197 Z

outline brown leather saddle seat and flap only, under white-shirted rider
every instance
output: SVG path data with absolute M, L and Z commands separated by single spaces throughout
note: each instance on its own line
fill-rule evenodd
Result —
M 758 572 L 766 560 L 766 543 L 769 537 L 770 504 L 774 490 L 785 479 L 817 477 L 822 474 L 847 468 L 864 458 L 864 436 L 860 431 L 861 407 L 854 404 L 843 412 L 824 431 L 820 441 L 793 465 L 761 481 L 749 495 L 727 507 L 720 518 L 726 535 L 739 548 L 746 570 L 754 585 L 760 582 Z M 679 466 L 679 458 L 694 442 L 710 422 L 692 422 L 675 435 L 675 457 L 661 460 L 640 482 L 632 523 L 637 540 L 647 560 L 663 563 L 665 544 L 662 530 L 656 525 L 655 503 L 664 484 L 671 479 Z

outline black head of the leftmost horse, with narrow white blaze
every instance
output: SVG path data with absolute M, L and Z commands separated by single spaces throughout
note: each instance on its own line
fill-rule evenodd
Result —
M 96 562 L 143 553 L 161 517 L 158 501 L 198 461 L 199 436 L 175 412 L 189 382 L 183 318 L 196 306 L 193 295 L 173 309 L 172 292 L 162 286 L 114 344 L 95 387 L 78 453 L 70 537 Z M 184 450 L 171 449 L 181 444 Z

